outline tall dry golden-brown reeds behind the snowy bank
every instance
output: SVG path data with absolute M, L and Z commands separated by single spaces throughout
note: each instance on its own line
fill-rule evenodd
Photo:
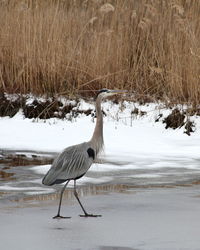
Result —
M 0 89 L 199 103 L 200 1 L 1 0 Z

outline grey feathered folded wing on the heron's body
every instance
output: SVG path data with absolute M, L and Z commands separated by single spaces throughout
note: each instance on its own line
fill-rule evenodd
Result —
M 52 185 L 84 175 L 93 163 L 88 143 L 66 148 L 54 160 L 50 170 L 43 179 L 43 184 Z

